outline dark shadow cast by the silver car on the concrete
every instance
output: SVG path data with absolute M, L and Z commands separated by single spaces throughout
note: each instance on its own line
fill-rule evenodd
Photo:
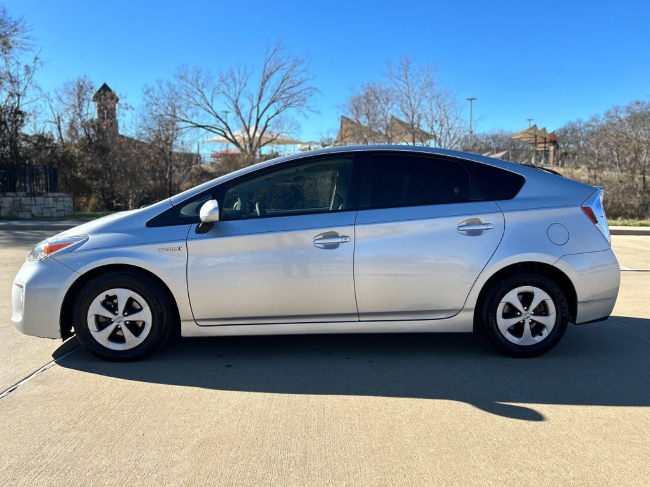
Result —
M 546 355 L 502 356 L 476 334 L 338 334 L 179 338 L 139 362 L 83 349 L 64 368 L 213 390 L 463 401 L 543 421 L 536 404 L 650 406 L 650 319 L 569 329 Z

